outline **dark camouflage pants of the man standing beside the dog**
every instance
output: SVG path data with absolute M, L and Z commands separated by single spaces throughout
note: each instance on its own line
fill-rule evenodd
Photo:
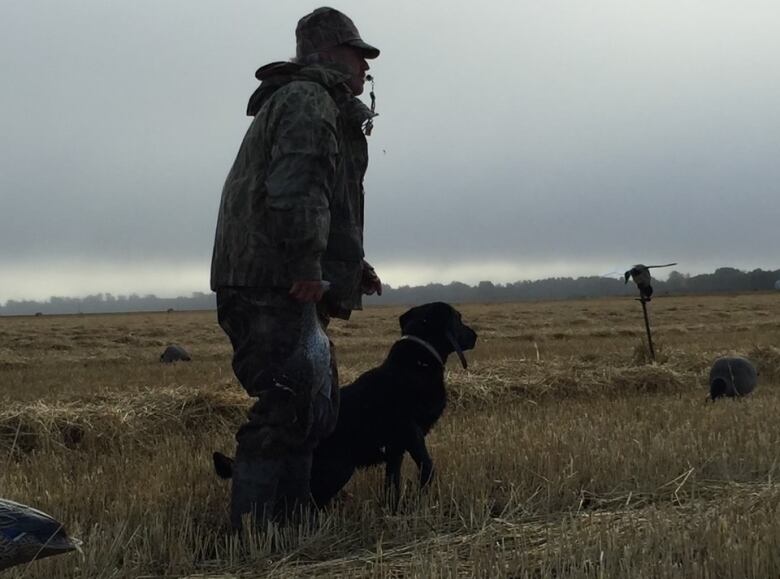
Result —
M 324 329 L 328 318 L 318 314 Z M 217 318 L 233 346 L 233 371 L 247 393 L 257 398 L 236 434 L 237 458 L 308 453 L 336 426 L 339 387 L 333 344 L 329 393 L 312 393 L 311 384 L 297 381 L 290 368 L 303 315 L 304 305 L 286 291 L 217 291 Z

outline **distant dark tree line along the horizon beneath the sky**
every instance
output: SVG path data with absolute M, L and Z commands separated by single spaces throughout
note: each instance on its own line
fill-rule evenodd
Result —
M 780 269 L 741 271 L 721 267 L 713 273 L 688 275 L 673 271 L 666 281 L 655 280 L 655 296 L 750 292 L 773 290 L 780 280 Z M 367 304 L 418 304 L 430 301 L 452 303 L 489 303 L 523 300 L 555 300 L 607 296 L 634 296 L 636 286 L 608 277 L 555 277 L 535 281 L 494 284 L 482 281 L 471 286 L 461 282 L 430 283 L 424 286 L 385 286 L 381 297 L 369 296 Z M 95 314 L 168 310 L 213 310 L 214 294 L 195 292 L 190 297 L 158 298 L 154 295 L 114 296 L 94 294 L 83 298 L 51 297 L 46 301 L 9 300 L 0 306 L 0 315 Z

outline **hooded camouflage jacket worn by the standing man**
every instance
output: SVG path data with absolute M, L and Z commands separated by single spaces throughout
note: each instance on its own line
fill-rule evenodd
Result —
M 335 66 L 272 63 L 222 190 L 211 288 L 324 279 L 330 314 L 361 307 L 363 125 L 372 113 Z M 367 266 L 370 267 L 370 266 Z

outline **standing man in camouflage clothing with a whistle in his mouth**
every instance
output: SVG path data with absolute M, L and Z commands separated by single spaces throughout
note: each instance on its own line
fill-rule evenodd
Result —
M 379 50 L 332 8 L 301 18 L 296 41 L 292 62 L 255 75 L 254 121 L 222 191 L 214 242 L 219 324 L 236 377 L 258 399 L 236 434 L 235 529 L 245 515 L 263 525 L 308 502 L 312 450 L 336 424 L 338 377 L 333 357 L 306 358 L 302 341 L 315 333 L 311 319 L 321 334 L 330 317 L 360 309 L 361 294 L 382 293 L 363 260 L 364 130 L 374 113 L 357 98 Z

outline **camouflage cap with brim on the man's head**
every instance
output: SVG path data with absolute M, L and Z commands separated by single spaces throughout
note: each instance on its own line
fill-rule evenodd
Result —
M 317 8 L 298 21 L 295 40 L 297 58 L 340 44 L 360 49 L 365 58 L 379 56 L 379 49 L 363 42 L 354 22 L 346 14 L 327 6 Z

